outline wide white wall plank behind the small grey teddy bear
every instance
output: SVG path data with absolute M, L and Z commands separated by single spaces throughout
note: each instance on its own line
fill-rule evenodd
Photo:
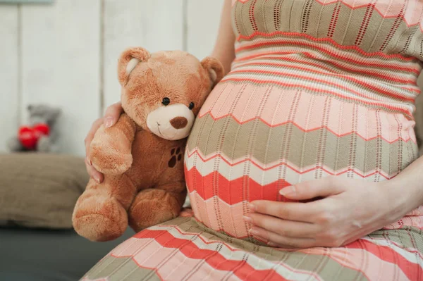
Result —
M 22 6 L 23 121 L 27 104 L 61 106 L 61 150 L 85 155 L 83 140 L 99 117 L 100 0 Z

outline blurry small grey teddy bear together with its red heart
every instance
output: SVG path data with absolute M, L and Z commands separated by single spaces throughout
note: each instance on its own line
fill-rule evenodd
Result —
M 61 109 L 47 104 L 27 106 L 28 125 L 21 126 L 18 135 L 8 140 L 8 149 L 12 152 L 39 151 L 56 152 L 56 122 Z

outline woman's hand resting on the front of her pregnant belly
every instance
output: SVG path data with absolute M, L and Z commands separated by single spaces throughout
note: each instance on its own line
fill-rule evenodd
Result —
M 252 226 L 250 234 L 269 246 L 343 246 L 405 216 L 400 200 L 388 200 L 386 182 L 341 177 L 302 182 L 281 189 L 281 194 L 293 200 L 324 198 L 252 201 L 244 220 Z

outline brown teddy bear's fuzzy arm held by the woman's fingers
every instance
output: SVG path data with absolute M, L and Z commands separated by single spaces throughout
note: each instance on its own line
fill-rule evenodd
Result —
M 135 122 L 125 113 L 113 127 L 99 127 L 90 145 L 92 166 L 105 175 L 125 173 L 133 163 L 131 149 L 136 130 Z

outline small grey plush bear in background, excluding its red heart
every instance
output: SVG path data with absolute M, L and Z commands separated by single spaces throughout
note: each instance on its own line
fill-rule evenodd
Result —
M 61 115 L 61 109 L 48 106 L 45 104 L 27 106 L 29 111 L 30 127 L 37 124 L 47 124 L 49 127 L 49 135 L 42 135 L 39 137 L 35 151 L 39 152 L 57 152 L 58 148 L 55 145 L 57 139 L 57 131 L 55 130 L 56 121 Z M 8 141 L 8 149 L 13 152 L 27 151 L 20 142 L 19 137 L 13 137 Z

